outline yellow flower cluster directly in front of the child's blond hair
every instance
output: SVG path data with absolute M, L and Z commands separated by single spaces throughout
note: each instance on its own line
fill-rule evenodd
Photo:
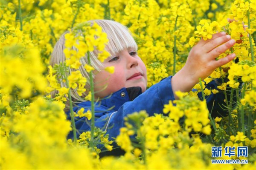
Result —
M 70 68 L 78 69 L 81 66 L 79 59 L 84 57 L 87 52 L 93 52 L 95 49 L 101 52 L 98 55 L 99 61 L 103 62 L 109 56 L 108 52 L 103 51 L 108 42 L 107 34 L 102 32 L 102 28 L 97 23 L 93 23 L 93 26 L 87 23 L 79 24 L 73 32 L 65 35 L 65 39 L 64 54 L 67 58 L 67 66 Z M 89 65 L 84 67 L 87 72 L 93 70 Z

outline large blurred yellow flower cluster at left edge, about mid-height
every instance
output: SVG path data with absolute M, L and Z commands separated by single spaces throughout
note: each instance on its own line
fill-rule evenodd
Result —
M 0 62 L 1 93 L 9 95 L 16 91 L 19 98 L 29 98 L 35 90 L 44 92 L 47 86 L 43 76 L 45 67 L 37 49 L 26 49 L 19 45 L 4 46 Z

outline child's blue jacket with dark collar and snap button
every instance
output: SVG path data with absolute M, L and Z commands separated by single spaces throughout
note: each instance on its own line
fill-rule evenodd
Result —
M 124 127 L 124 117 L 126 115 L 133 112 L 139 112 L 140 110 L 146 110 L 149 116 L 154 115 L 154 113 L 162 113 L 163 105 L 168 104 L 170 100 L 175 100 L 172 92 L 171 80 L 172 76 L 165 78 L 143 93 L 141 92 L 140 87 L 122 88 L 107 98 L 95 103 L 96 127 L 107 130 L 109 139 L 112 140 L 119 135 L 119 129 Z M 217 86 L 218 84 L 216 84 L 215 81 L 212 81 L 207 84 L 206 87 L 208 89 L 216 89 Z M 198 96 L 201 95 L 199 94 Z M 218 103 L 216 101 L 218 101 Z M 213 108 L 213 117 L 227 114 L 227 111 L 221 109 L 221 104 L 224 104 L 223 93 L 207 96 L 207 107 L 209 110 Z M 90 101 L 85 101 L 79 103 L 73 110 L 74 112 L 77 112 L 83 107 L 86 112 L 87 109 L 90 109 L 90 106 Z M 69 112 L 67 114 L 69 115 Z M 88 125 L 88 121 L 85 121 L 85 117 L 76 117 L 75 121 L 76 129 L 79 131 L 77 136 L 82 132 L 90 130 L 90 126 Z M 73 138 L 72 132 L 70 132 L 68 138 Z

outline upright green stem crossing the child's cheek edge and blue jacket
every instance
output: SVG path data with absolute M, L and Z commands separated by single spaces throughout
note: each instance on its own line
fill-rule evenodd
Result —
M 88 64 L 91 66 L 91 61 L 90 61 L 90 53 L 87 52 L 87 60 Z M 89 72 L 89 77 L 90 77 L 90 92 L 91 92 L 91 113 L 92 113 L 92 118 L 91 118 L 91 140 L 89 146 L 94 149 L 94 129 L 95 129 L 95 109 L 94 109 L 94 84 L 93 84 L 93 72 Z

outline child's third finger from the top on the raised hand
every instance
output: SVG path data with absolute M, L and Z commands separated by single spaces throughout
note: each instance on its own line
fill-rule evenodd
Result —
M 235 43 L 236 43 L 236 41 L 233 39 L 227 41 L 224 44 L 220 43 L 221 45 L 217 46 L 216 48 L 213 48 L 210 52 L 208 52 L 208 55 L 210 56 L 210 58 L 217 58 L 219 55 L 221 55 L 222 53 L 227 51 L 227 49 L 230 49 Z

